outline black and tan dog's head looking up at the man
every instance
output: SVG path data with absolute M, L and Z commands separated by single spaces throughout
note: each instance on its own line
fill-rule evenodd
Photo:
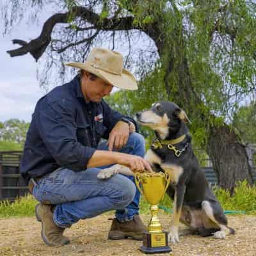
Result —
M 190 122 L 185 111 L 173 102 L 156 102 L 150 109 L 136 114 L 138 122 L 157 132 L 161 140 L 177 134 L 182 124 Z

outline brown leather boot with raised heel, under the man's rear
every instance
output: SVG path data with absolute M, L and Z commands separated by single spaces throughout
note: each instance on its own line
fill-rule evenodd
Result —
M 58 227 L 52 220 L 52 205 L 36 205 L 36 219 L 42 222 L 41 236 L 45 244 L 49 246 L 60 246 L 70 243 L 70 240 L 63 236 L 65 228 Z

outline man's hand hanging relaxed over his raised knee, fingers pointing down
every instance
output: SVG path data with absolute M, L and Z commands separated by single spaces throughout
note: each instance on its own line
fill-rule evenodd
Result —
M 108 139 L 108 149 L 112 151 L 113 148 L 120 149 L 124 147 L 129 138 L 129 124 L 118 121 L 113 127 L 112 131 L 109 134 Z

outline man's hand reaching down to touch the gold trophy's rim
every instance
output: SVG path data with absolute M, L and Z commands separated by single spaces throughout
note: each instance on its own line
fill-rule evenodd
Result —
M 118 157 L 117 163 L 129 167 L 132 172 L 153 172 L 148 161 L 140 156 L 122 154 L 122 157 Z

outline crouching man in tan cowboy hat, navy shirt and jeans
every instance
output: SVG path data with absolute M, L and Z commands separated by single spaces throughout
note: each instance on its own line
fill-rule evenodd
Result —
M 123 69 L 120 53 L 95 48 L 80 75 L 38 100 L 20 166 L 29 189 L 41 202 L 36 218 L 49 246 L 69 243 L 65 228 L 78 220 L 116 210 L 109 239 L 141 239 L 145 225 L 138 215 L 140 194 L 133 177 L 97 179 L 100 169 L 124 164 L 133 172 L 152 171 L 143 159 L 145 143 L 136 122 L 102 100 L 113 86 L 136 90 Z M 106 142 L 100 143 L 100 138 Z

